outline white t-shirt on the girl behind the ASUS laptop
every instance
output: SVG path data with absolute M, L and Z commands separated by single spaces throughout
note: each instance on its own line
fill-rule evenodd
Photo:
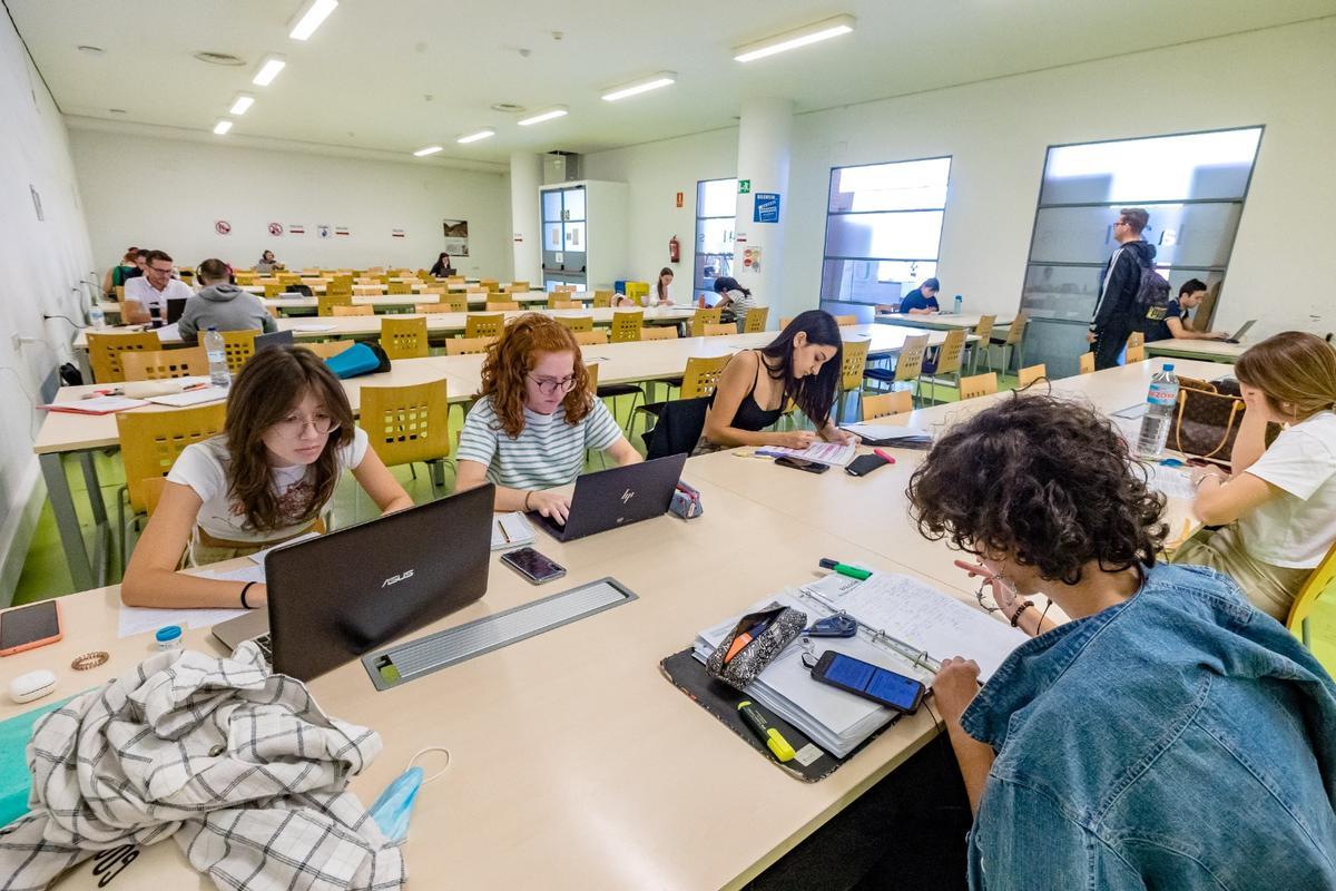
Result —
M 338 470 L 351 470 L 362 464 L 366 457 L 367 438 L 366 430 L 355 427 L 353 442 L 338 450 Z M 190 486 L 204 502 L 199 506 L 196 522 L 199 528 L 214 538 L 224 541 L 277 541 L 302 532 L 310 521 L 293 522 L 281 529 L 267 529 L 263 532 L 253 529 L 246 522 L 246 514 L 239 510 L 239 505 L 232 504 L 227 496 L 230 488 L 227 480 L 227 465 L 231 456 L 227 453 L 226 437 L 214 437 L 203 442 L 186 446 L 176 457 L 176 464 L 167 473 L 168 482 L 178 482 Z M 303 508 L 311 497 L 311 482 L 307 478 L 310 466 L 297 465 L 291 468 L 271 468 L 274 489 L 279 493 L 281 506 L 291 505 L 291 513 L 301 516 Z M 321 512 L 326 505 L 321 505 Z

